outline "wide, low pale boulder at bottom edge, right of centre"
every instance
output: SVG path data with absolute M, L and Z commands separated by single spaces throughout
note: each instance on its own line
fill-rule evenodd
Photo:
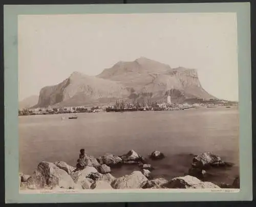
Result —
M 164 183 L 162 187 L 172 188 L 172 189 L 211 189 L 211 188 L 220 188 L 212 182 L 203 182 L 200 179 L 186 175 L 184 177 L 176 177 L 168 182 Z

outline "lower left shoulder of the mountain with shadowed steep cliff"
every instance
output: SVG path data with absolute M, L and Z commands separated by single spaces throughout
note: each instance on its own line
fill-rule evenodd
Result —
M 36 107 L 49 105 L 76 106 L 84 103 L 99 103 L 104 99 L 119 99 L 129 96 L 129 91 L 120 83 L 74 72 L 65 81 L 41 89 Z

